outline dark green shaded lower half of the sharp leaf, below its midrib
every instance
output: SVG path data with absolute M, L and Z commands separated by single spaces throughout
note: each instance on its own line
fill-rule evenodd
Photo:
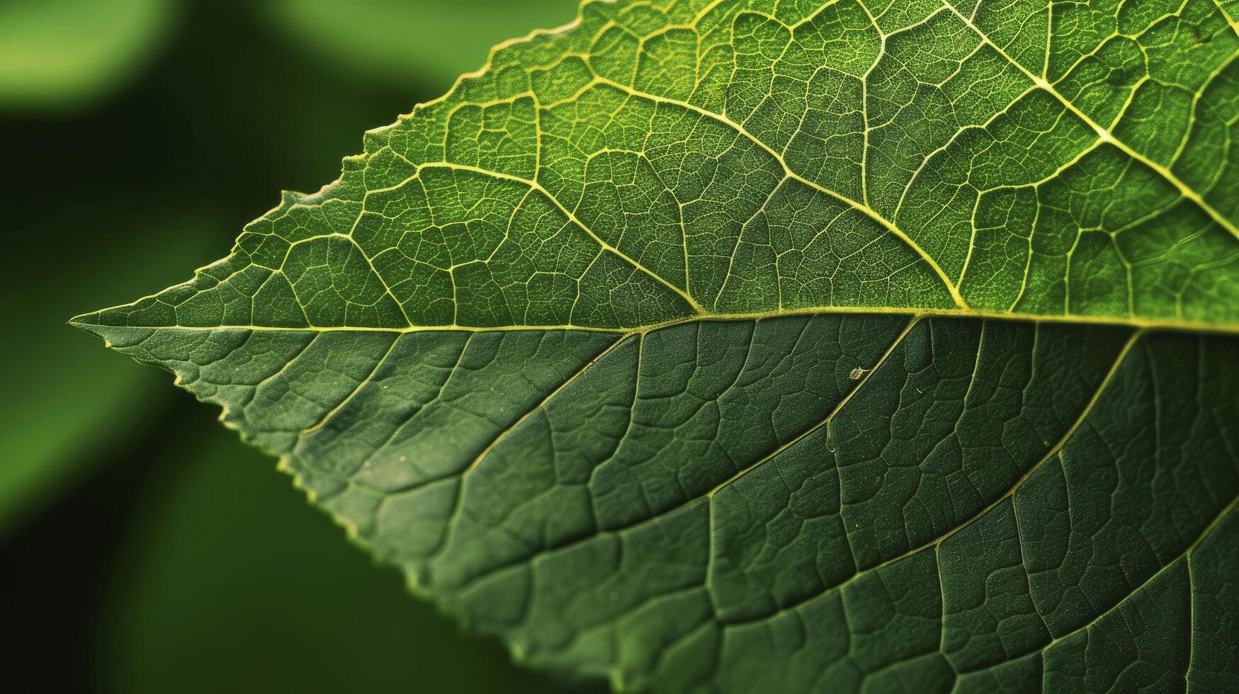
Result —
M 1239 687 L 1229 337 L 89 330 L 534 664 L 668 692 Z

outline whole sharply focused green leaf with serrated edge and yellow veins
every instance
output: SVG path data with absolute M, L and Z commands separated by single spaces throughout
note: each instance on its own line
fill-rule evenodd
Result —
M 1235 689 L 1237 12 L 589 2 L 74 321 L 535 665 Z

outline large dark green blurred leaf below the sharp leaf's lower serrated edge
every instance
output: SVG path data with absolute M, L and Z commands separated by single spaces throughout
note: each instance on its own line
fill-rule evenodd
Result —
M 178 450 L 165 450 L 109 581 L 104 690 L 576 690 L 409 600 L 398 574 L 287 493 L 270 459 L 217 428 L 187 424 L 169 440 Z

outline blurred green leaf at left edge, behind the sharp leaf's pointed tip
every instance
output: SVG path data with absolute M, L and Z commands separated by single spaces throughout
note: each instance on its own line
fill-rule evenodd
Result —
M 12 528 L 16 516 L 74 478 L 100 449 L 140 429 L 142 406 L 159 398 L 159 378 L 116 368 L 77 340 L 64 340 L 61 314 L 98 294 L 120 297 L 171 280 L 177 266 L 201 263 L 216 238 L 209 223 L 192 218 L 99 208 L 94 214 L 56 216 L 26 228 L 27 243 L 9 245 L 11 270 L 0 279 L 0 315 L 20 325 L 25 337 L 0 341 L 0 359 L 7 364 L 0 369 L 0 393 L 6 394 L 0 398 L 0 528 Z M 130 223 L 109 222 L 114 214 Z M 85 218 L 89 234 L 83 233 Z M 82 253 L 46 243 L 57 234 L 71 235 Z M 97 273 L 99 259 L 123 264 L 125 271 Z

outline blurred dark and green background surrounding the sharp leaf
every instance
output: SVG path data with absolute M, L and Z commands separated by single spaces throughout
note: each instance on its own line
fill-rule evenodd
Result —
M 5 690 L 601 690 L 462 633 L 214 408 L 64 326 L 188 279 L 575 4 L 0 0 Z

